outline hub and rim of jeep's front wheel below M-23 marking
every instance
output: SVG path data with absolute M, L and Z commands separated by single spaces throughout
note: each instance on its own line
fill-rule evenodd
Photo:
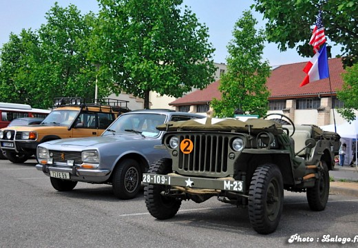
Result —
M 280 191 L 277 180 L 271 180 L 266 193 L 266 215 L 274 221 L 280 211 Z

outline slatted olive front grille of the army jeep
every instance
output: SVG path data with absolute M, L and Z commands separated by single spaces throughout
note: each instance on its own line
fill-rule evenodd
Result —
M 186 134 L 180 141 L 189 138 L 193 142 L 190 154 L 179 152 L 178 170 L 183 174 L 198 173 L 206 176 L 227 175 L 229 136 L 222 134 Z

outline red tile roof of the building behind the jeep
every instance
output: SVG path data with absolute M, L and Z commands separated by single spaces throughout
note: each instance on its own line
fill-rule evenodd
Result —
M 344 72 L 341 59 L 328 59 L 330 71 L 329 79 L 314 81 L 303 87 L 299 84 L 306 74 L 302 71 L 307 62 L 292 63 L 288 65 L 280 65 L 271 71 L 271 76 L 267 79 L 267 87 L 271 92 L 269 99 L 294 99 L 299 97 L 330 95 L 330 85 L 335 95 L 337 90 L 341 89 L 343 84 L 341 73 Z M 200 103 L 208 103 L 211 99 L 221 99 L 221 92 L 218 90 L 220 80 L 211 83 L 204 90 L 196 90 L 180 99 L 176 99 L 169 105 L 196 105 Z

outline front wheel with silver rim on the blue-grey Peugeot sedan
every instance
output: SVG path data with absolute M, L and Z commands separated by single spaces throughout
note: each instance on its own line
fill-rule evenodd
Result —
M 134 198 L 140 189 L 142 172 L 134 159 L 122 161 L 114 169 L 112 178 L 113 193 L 120 199 Z

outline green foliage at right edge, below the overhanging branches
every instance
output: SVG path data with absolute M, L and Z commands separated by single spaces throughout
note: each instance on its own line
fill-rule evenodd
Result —
M 343 86 L 337 91 L 339 100 L 344 101 L 344 108 L 337 110 L 347 121 L 355 120 L 355 110 L 358 110 L 358 63 L 346 68 L 343 76 Z

